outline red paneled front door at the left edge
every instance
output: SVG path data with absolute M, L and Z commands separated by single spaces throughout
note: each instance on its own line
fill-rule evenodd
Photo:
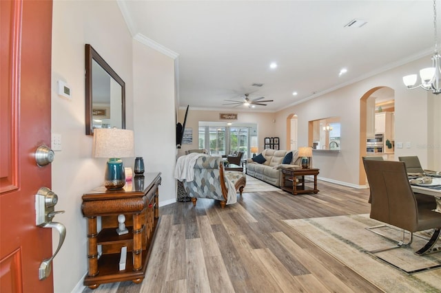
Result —
M 51 187 L 34 152 L 50 146 L 52 0 L 1 0 L 0 31 L 0 292 L 53 292 L 52 274 L 39 280 L 52 231 L 34 203 Z

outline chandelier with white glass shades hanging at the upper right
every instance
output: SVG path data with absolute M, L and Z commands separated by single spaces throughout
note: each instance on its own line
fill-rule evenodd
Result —
M 438 53 L 438 40 L 437 40 L 437 32 L 436 32 L 436 1 L 433 0 L 433 28 L 434 28 L 434 36 L 435 36 L 435 51 L 432 56 L 432 67 L 423 68 L 420 70 L 420 78 L 421 84 L 416 84 L 417 75 L 411 74 L 408 76 L 404 76 L 402 81 L 404 85 L 406 85 L 407 89 L 416 89 L 417 87 L 422 87 L 427 91 L 433 91 L 433 94 L 440 94 L 440 78 L 441 78 L 441 55 Z

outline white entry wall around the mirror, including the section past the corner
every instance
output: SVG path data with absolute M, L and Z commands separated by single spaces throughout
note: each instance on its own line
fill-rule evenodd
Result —
M 134 129 L 136 155 L 147 172 L 163 173 L 160 205 L 174 196 L 174 67 L 170 58 L 133 41 L 116 1 L 55 0 L 52 28 L 52 133 L 61 134 L 63 148 L 52 163 L 52 190 L 59 195 L 57 210 L 65 210 L 54 221 L 67 230 L 52 271 L 54 292 L 64 293 L 83 287 L 88 239 L 81 196 L 103 183 L 105 169 L 105 159 L 92 158 L 92 136 L 85 135 L 85 44 L 125 81 L 126 128 Z M 72 100 L 57 95 L 57 80 L 71 86 Z M 134 158 L 124 161 L 133 168 Z M 54 250 L 58 239 L 54 232 Z

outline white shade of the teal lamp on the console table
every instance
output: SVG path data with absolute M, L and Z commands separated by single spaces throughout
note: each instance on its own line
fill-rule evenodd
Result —
M 94 158 L 131 158 L 135 156 L 132 130 L 116 128 L 94 129 Z

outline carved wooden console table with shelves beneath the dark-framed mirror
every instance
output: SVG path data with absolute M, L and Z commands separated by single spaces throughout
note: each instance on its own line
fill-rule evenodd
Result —
M 143 281 L 159 220 L 159 184 L 161 173 L 145 173 L 144 177 L 133 177 L 121 189 L 109 191 L 101 186 L 83 195 L 81 210 L 88 217 L 89 242 L 89 272 L 84 285 L 95 289 L 102 283 Z M 127 234 L 116 232 L 118 215 L 125 215 Z M 101 216 L 99 232 L 98 216 Z M 119 270 L 123 246 L 127 247 L 127 261 L 125 270 Z

